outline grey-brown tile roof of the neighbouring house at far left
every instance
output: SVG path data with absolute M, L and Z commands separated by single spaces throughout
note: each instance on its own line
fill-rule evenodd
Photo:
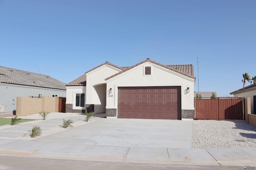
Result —
M 50 76 L 0 66 L 0 83 L 66 90 L 65 83 Z

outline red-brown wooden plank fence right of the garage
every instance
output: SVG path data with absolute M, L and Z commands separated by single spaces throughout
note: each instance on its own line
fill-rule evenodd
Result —
M 195 119 L 244 119 L 244 98 L 195 99 Z

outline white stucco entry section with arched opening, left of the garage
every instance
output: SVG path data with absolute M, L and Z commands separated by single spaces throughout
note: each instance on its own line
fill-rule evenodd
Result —
M 86 104 L 94 104 L 95 113 L 102 113 L 106 110 L 105 78 L 120 71 L 116 67 L 104 64 L 86 74 Z

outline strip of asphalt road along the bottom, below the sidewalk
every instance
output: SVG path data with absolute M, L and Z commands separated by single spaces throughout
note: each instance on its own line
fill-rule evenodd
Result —
M 252 168 L 252 167 L 251 167 Z M 0 156 L 0 170 L 242 170 L 242 166 L 201 166 L 96 162 L 27 156 Z

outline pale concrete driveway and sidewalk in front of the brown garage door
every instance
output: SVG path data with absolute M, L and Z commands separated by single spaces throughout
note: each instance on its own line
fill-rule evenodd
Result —
M 73 121 L 84 119 L 68 117 Z M 75 160 L 200 164 L 256 167 L 256 148 L 191 149 L 192 121 L 104 119 L 32 141 L 0 139 L 0 155 L 27 155 Z M 22 123 L 21 123 L 22 124 Z M 21 126 L 21 124 L 19 126 Z M 56 127 L 61 119 L 0 129 L 0 137 L 17 137 L 33 125 Z

